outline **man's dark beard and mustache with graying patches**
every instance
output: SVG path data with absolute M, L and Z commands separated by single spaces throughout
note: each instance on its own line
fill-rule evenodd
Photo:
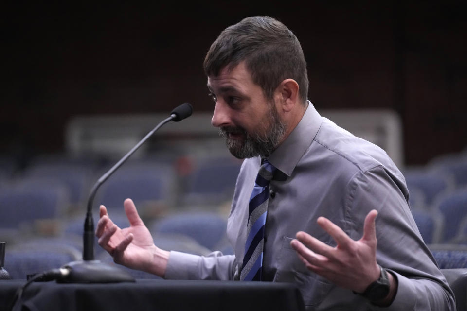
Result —
M 260 133 L 256 130 L 253 133 L 248 133 L 241 127 L 225 126 L 219 129 L 220 136 L 225 140 L 225 144 L 230 153 L 238 159 L 246 159 L 254 156 L 269 156 L 282 141 L 286 132 L 287 124 L 279 120 L 274 103 L 268 113 L 263 117 L 263 120 L 258 124 L 269 124 L 267 128 Z M 244 139 L 230 139 L 229 133 L 242 134 Z

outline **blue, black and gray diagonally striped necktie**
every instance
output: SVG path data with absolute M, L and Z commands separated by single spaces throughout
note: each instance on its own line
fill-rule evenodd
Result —
M 266 224 L 269 201 L 269 182 L 276 170 L 272 164 L 264 160 L 254 182 L 248 211 L 245 256 L 243 257 L 242 272 L 240 273 L 240 280 L 242 281 L 261 280 L 264 226 Z

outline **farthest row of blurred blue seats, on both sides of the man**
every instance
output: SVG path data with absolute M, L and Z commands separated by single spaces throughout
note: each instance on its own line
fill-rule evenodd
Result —
M 12 188 L 64 188 L 62 200 L 83 206 L 92 185 L 113 163 L 96 158 L 42 156 L 15 170 L 0 157 L 0 191 Z M 232 156 L 192 158 L 148 155 L 128 160 L 104 183 L 96 201 L 121 207 L 125 195 L 135 201 L 164 201 L 171 205 L 219 204 L 230 200 L 241 162 Z M 404 171 L 410 204 L 436 209 L 455 192 L 467 187 L 467 152 L 434 159 L 428 165 Z M 123 198 L 123 199 L 122 199 Z M 459 200 L 459 199 L 458 199 Z M 441 208 L 443 209 L 443 208 Z

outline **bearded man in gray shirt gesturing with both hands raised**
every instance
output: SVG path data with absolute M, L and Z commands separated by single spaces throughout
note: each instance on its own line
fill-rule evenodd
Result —
M 305 58 L 285 25 L 249 17 L 228 27 L 204 69 L 212 124 L 245 158 L 227 226 L 235 255 L 159 249 L 127 199 L 129 228 L 101 206 L 96 229 L 115 262 L 165 278 L 293 282 L 309 310 L 455 310 L 402 174 L 307 101 Z

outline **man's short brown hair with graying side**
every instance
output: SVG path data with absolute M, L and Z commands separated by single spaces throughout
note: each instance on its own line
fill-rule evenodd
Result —
M 247 17 L 226 28 L 213 42 L 204 59 L 207 76 L 217 76 L 226 66 L 232 68 L 246 61 L 253 81 L 272 99 L 277 86 L 285 79 L 299 85 L 305 104 L 308 75 L 305 56 L 297 37 L 280 21 L 267 16 Z

